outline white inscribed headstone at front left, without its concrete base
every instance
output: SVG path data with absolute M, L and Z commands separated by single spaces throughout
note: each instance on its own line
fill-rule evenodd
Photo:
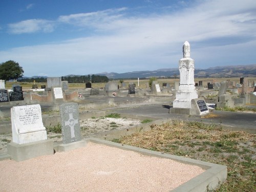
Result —
M 12 141 L 18 144 L 47 139 L 39 104 L 11 108 Z

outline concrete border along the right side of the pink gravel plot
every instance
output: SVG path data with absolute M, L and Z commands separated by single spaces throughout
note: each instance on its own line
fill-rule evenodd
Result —
M 133 151 L 133 152 L 140 153 L 142 155 L 172 159 L 174 161 L 178 161 L 178 162 L 190 164 L 190 165 L 196 165 L 205 169 L 204 173 L 178 186 L 177 188 L 173 189 L 172 192 L 208 191 L 208 190 L 217 188 L 227 178 L 227 166 L 225 165 L 219 165 L 219 164 L 209 163 L 201 160 L 195 160 L 195 159 L 190 159 L 186 157 L 180 157 L 176 155 L 169 155 L 161 152 L 145 150 L 144 148 L 124 145 L 124 144 L 101 140 L 97 138 L 88 138 L 86 139 L 86 141 L 97 143 L 97 144 L 103 144 L 111 147 L 116 147 L 122 150 Z

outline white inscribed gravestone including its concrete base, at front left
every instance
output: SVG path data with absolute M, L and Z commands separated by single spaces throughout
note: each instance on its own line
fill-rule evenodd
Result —
M 8 154 L 16 161 L 53 154 L 53 140 L 47 139 L 39 104 L 11 108 L 12 142 Z

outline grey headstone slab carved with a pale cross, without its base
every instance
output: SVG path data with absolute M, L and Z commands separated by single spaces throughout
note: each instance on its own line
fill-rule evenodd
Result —
M 79 112 L 77 103 L 64 103 L 59 106 L 63 143 L 81 140 Z

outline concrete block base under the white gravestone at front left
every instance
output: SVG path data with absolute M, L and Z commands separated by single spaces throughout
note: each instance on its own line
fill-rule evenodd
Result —
M 7 144 L 7 152 L 15 161 L 24 161 L 43 155 L 53 155 L 53 139 L 25 144 L 10 142 Z

